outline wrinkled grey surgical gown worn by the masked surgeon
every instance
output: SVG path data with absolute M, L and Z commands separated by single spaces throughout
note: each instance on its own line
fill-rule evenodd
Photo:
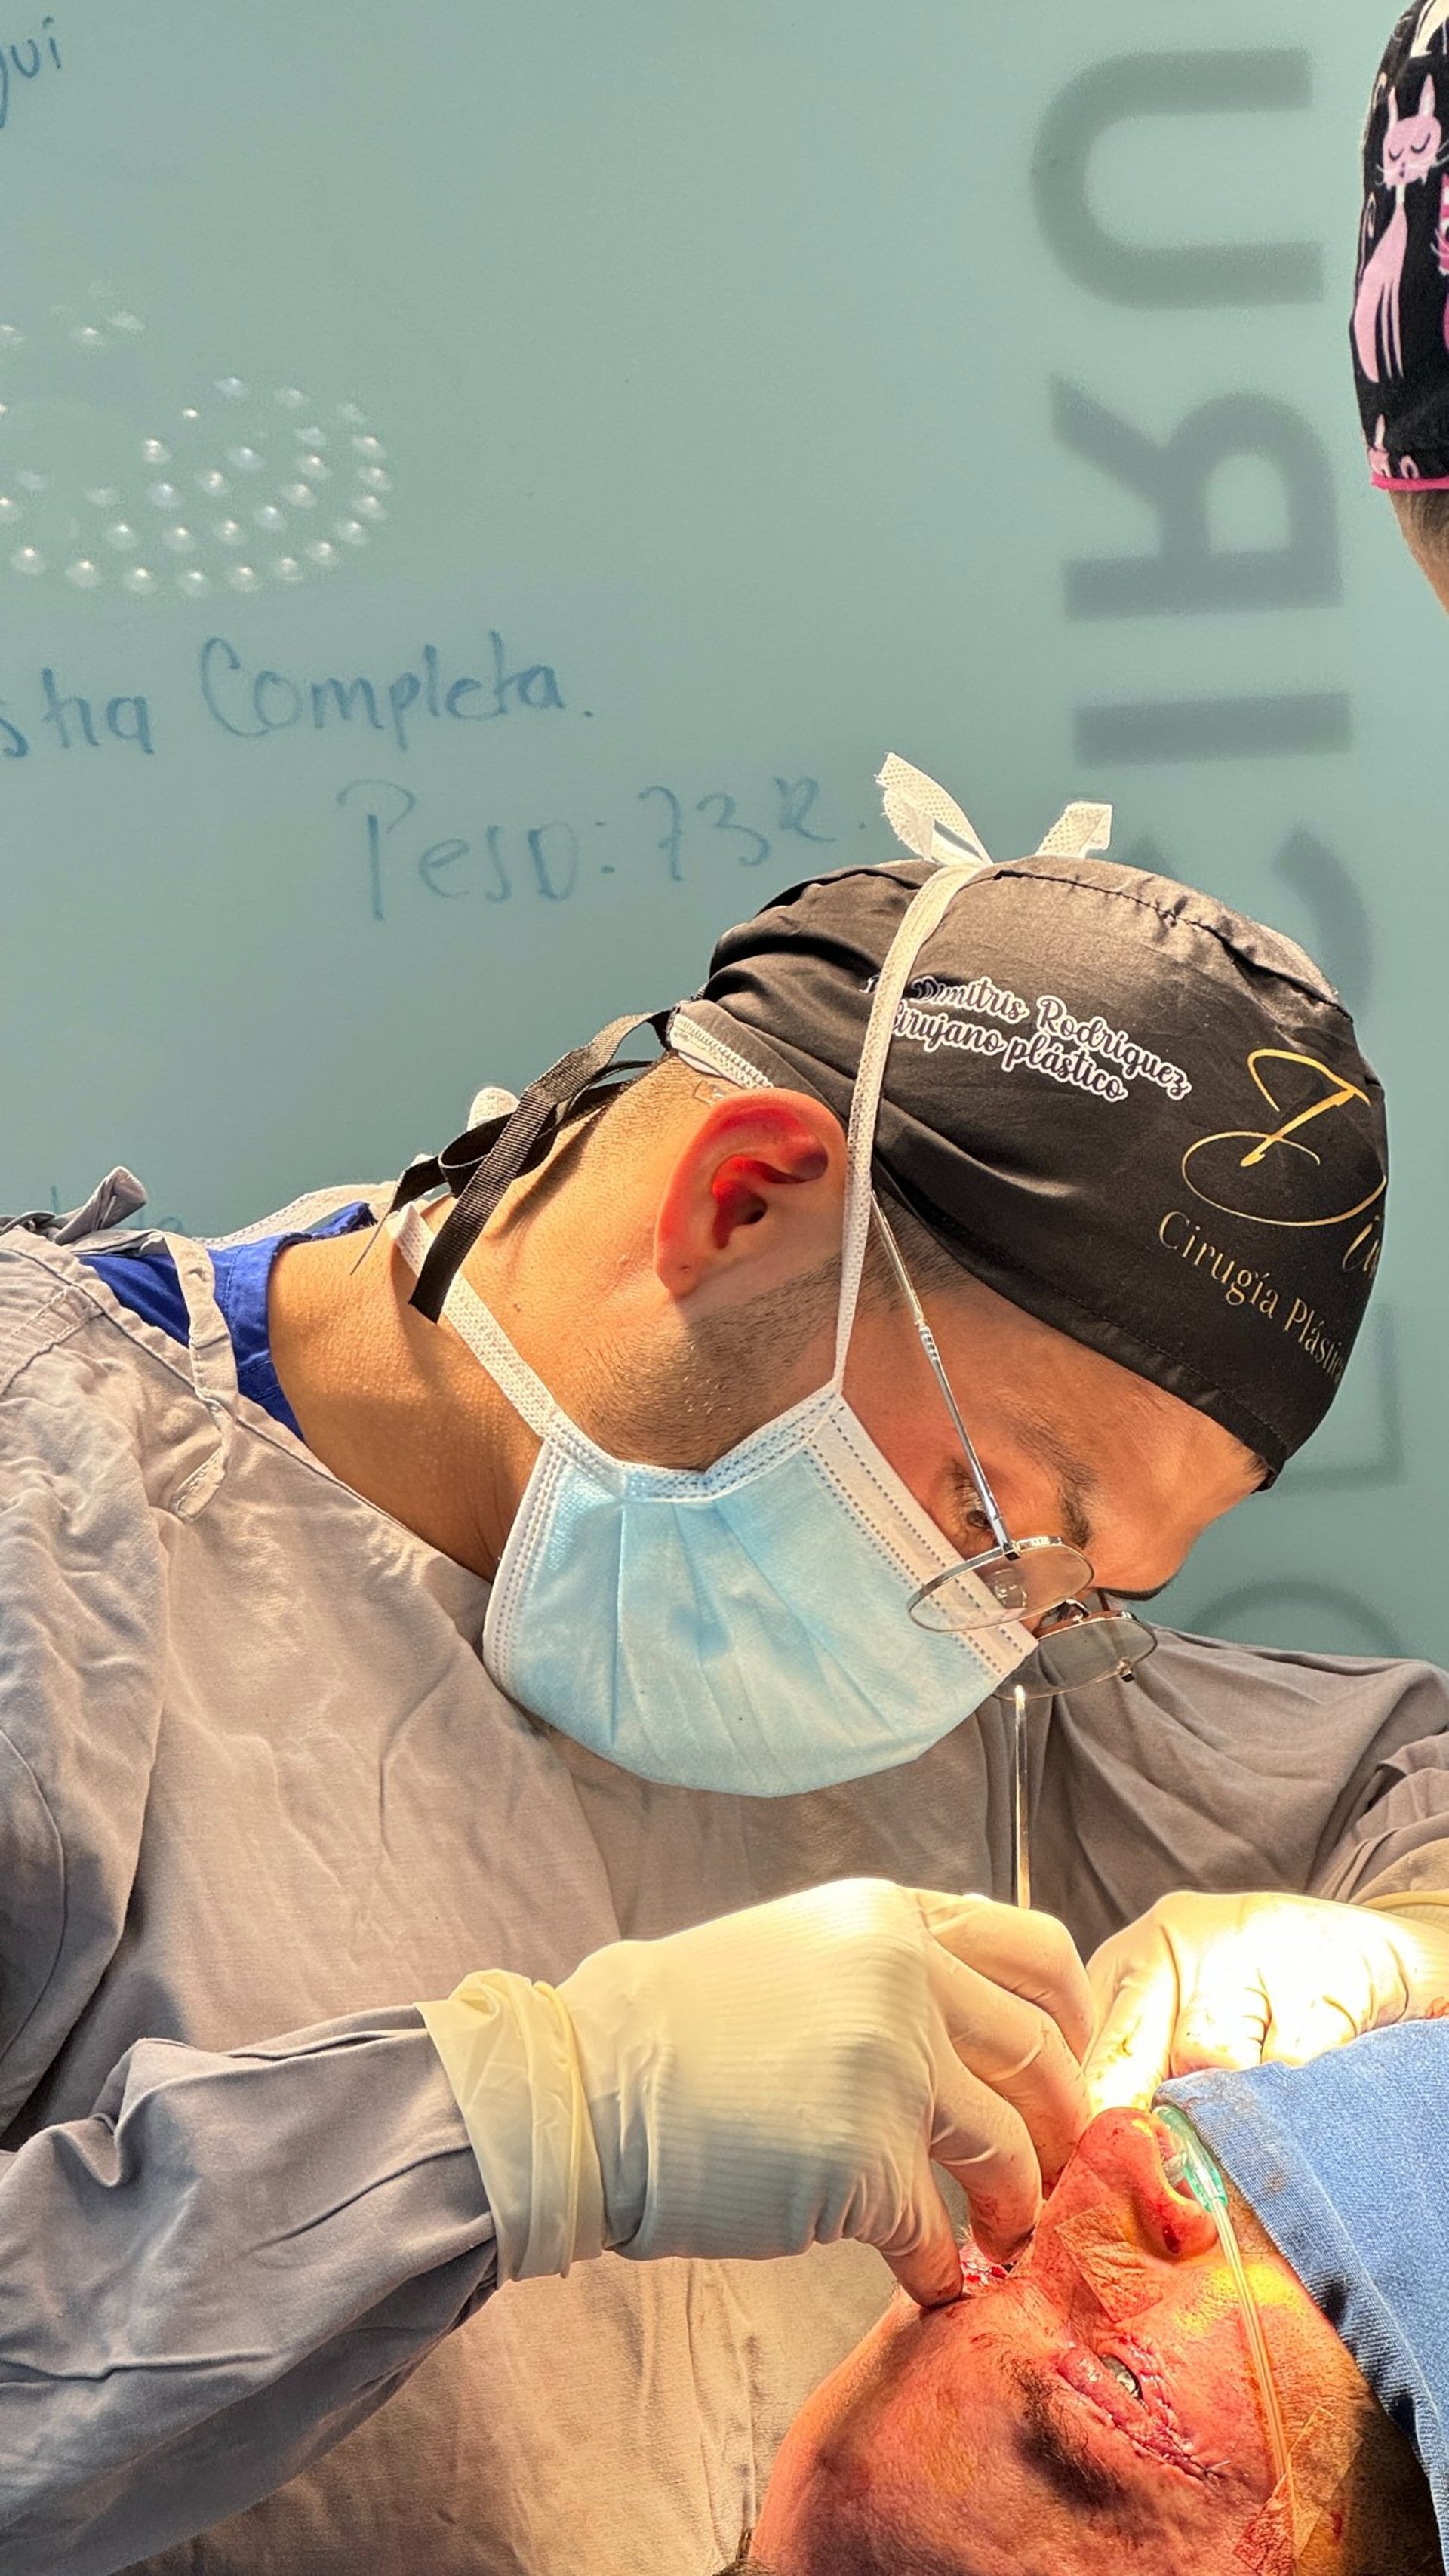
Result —
M 494 1690 L 484 1602 L 206 1334 L 0 1236 L 0 2576 L 710 2576 L 885 2303 L 857 2246 L 489 2298 L 412 2004 L 852 1873 L 1004 1891 L 1004 1710 L 649 1788 Z M 1040 1899 L 1091 1947 L 1184 1883 L 1449 1883 L 1446 1723 L 1421 1664 L 1166 1636 L 1055 1710 Z

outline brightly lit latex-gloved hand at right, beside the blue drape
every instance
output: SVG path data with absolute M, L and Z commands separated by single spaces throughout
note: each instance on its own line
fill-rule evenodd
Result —
M 1413 1899 L 1405 1899 L 1413 1904 Z M 1163 1896 L 1089 1963 L 1094 2110 L 1204 2066 L 1305 2066 L 1449 2002 L 1449 1932 L 1313 1896 Z

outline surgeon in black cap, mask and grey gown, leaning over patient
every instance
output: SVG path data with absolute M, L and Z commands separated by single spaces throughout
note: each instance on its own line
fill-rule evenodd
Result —
M 1014 1677 L 1320 1422 L 1382 1100 L 1274 933 L 893 811 L 628 1087 L 0 1239 L 3 2576 L 710 2566 L 880 2254 L 960 2287 L 932 2156 L 1009 2257 L 1086 2125 Z M 1444 1728 L 1171 1636 L 1048 1703 L 1094 2081 L 1449 1991 Z

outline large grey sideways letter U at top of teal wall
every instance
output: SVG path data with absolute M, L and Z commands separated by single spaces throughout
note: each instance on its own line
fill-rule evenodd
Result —
M 1313 59 L 1261 54 L 1117 54 L 1081 72 L 1045 113 L 1032 160 L 1040 227 L 1066 273 L 1109 304 L 1153 312 L 1204 304 L 1318 304 L 1315 242 L 1150 247 L 1107 232 L 1089 204 L 1091 155 L 1140 116 L 1256 116 L 1313 106 Z M 1184 183 L 1179 204 L 1192 204 Z

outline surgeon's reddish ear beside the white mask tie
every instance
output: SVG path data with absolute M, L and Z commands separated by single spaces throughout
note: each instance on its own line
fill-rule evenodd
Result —
M 734 1306 L 839 1255 L 847 1146 L 808 1092 L 731 1092 L 679 1151 L 654 1226 L 672 1298 Z

